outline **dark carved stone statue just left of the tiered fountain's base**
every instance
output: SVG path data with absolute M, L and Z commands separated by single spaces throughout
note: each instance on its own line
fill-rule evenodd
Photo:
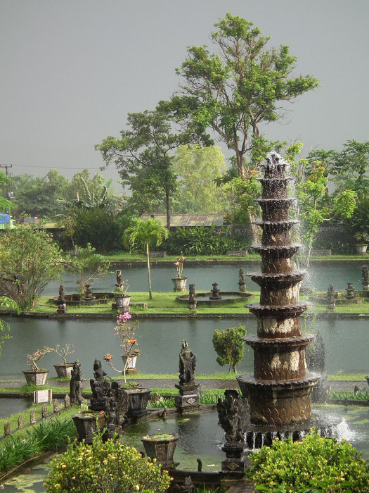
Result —
M 226 432 L 226 444 L 235 445 L 245 442 L 241 405 L 243 406 L 242 399 L 240 399 L 236 389 L 226 389 L 224 401 L 220 397 L 218 398 L 216 409 L 221 428 Z

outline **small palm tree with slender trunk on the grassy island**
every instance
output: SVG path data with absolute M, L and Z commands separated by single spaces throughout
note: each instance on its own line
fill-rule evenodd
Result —
M 124 231 L 123 243 L 124 246 L 132 248 L 136 243 L 138 246 L 145 247 L 146 258 L 148 261 L 148 293 L 150 299 L 153 299 L 151 292 L 151 274 L 150 274 L 150 251 L 149 244 L 155 244 L 158 246 L 162 243 L 164 238 L 167 238 L 169 231 L 157 219 L 143 220 L 140 218 L 134 218 L 131 221 L 131 225 Z

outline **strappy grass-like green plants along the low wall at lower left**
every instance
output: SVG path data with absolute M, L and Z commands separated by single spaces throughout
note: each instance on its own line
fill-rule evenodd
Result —
M 0 445 L 0 470 L 7 470 L 36 456 L 41 451 L 56 450 L 76 435 L 75 425 L 69 418 L 43 420 L 39 426 L 25 430 L 26 437 L 10 436 Z

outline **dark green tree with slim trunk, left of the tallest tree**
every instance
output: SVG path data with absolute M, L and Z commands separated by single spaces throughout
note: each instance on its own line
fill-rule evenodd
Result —
M 170 120 L 157 110 L 129 113 L 127 123 L 129 130 L 122 130 L 120 138 L 106 137 L 95 148 L 101 151 L 105 166 L 115 163 L 132 192 L 146 199 L 164 196 L 169 228 L 171 196 L 177 187 L 171 152 L 186 142 L 188 132 L 173 132 Z

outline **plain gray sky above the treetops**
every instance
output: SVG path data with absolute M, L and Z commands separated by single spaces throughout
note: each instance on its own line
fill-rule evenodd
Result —
M 321 80 L 266 137 L 306 150 L 368 140 L 368 0 L 0 0 L 0 163 L 96 173 L 94 144 L 169 99 L 186 46 L 210 46 L 227 11 L 290 46 L 295 75 Z M 117 179 L 112 166 L 103 175 Z

